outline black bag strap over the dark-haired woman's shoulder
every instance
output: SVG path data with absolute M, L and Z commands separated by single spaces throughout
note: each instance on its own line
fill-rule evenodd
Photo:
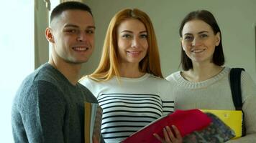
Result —
M 230 88 L 232 92 L 232 99 L 236 110 L 242 111 L 242 92 L 241 92 L 241 73 L 244 71 L 243 68 L 232 68 L 230 71 Z M 246 134 L 244 124 L 244 114 L 242 119 L 242 137 Z

